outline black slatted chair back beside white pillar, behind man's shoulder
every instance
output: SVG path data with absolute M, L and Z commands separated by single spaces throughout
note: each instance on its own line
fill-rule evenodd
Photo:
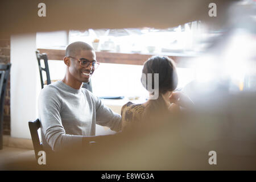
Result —
M 46 72 L 47 85 L 51 84 L 51 78 L 49 76 L 48 57 L 47 57 L 46 53 L 40 53 L 39 51 L 36 51 L 36 58 L 38 59 L 41 87 L 43 89 L 44 88 L 44 81 L 43 81 L 43 72 L 42 71 Z M 44 60 L 44 68 L 41 65 L 41 60 Z

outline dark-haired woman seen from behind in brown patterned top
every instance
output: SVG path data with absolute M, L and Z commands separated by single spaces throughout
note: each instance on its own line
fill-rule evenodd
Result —
M 151 93 L 152 89 L 158 89 L 158 97 L 156 99 L 149 99 L 143 104 L 127 102 L 127 104 L 123 105 L 121 110 L 123 129 L 141 121 L 154 122 L 164 114 L 179 110 L 179 106 L 193 105 L 193 102 L 183 93 L 174 92 L 177 87 L 178 78 L 175 63 L 169 57 L 151 57 L 144 63 L 142 73 L 146 77 L 148 73 L 152 74 L 152 86 L 145 84 L 147 82 L 142 80 L 143 77 L 141 78 L 142 85 L 150 94 L 149 98 L 154 96 L 154 92 Z M 159 74 L 158 88 L 154 88 L 153 80 L 155 73 Z

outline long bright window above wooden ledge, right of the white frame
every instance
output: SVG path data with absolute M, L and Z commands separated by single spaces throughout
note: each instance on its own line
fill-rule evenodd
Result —
M 200 52 L 207 46 L 203 39 L 217 35 L 207 34 L 200 21 L 186 23 L 174 28 L 124 28 L 117 30 L 69 31 L 69 43 L 83 41 L 97 51 L 121 53 L 168 53 Z

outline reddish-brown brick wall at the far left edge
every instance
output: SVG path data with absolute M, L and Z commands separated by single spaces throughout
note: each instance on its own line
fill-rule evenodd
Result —
M 0 64 L 10 63 L 10 38 L 0 39 Z M 3 134 L 10 135 L 10 78 L 6 87 L 3 111 Z

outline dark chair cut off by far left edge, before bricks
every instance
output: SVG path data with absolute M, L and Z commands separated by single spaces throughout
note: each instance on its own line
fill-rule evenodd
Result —
M 9 81 L 11 64 L 0 64 L 0 150 L 3 148 L 3 107 L 5 105 L 6 86 Z

